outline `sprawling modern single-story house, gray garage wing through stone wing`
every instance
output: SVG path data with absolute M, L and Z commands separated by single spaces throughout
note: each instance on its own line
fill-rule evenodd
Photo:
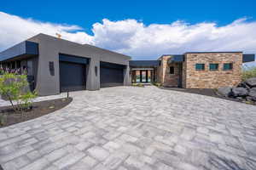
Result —
M 26 70 L 39 95 L 98 90 L 160 82 L 166 87 L 218 88 L 241 81 L 241 65 L 254 61 L 242 52 L 200 52 L 162 55 L 157 60 L 131 57 L 88 44 L 38 34 L 0 53 L 5 68 Z

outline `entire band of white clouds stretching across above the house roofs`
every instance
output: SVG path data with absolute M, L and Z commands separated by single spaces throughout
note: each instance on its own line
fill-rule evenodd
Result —
M 108 48 L 133 59 L 156 59 L 161 54 L 189 51 L 244 51 L 256 53 L 256 21 L 246 18 L 226 26 L 203 22 L 194 25 L 177 20 L 171 24 L 145 26 L 137 20 L 108 19 L 92 26 L 93 35 L 80 26 L 53 24 L 0 12 L 0 50 L 40 32 L 55 32 L 73 42 L 90 43 Z

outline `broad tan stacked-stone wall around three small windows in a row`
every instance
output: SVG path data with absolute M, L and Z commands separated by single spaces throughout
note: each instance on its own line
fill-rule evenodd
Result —
M 205 64 L 205 70 L 196 71 L 196 63 Z M 209 71 L 210 63 L 217 63 L 218 71 Z M 233 69 L 224 71 L 224 63 L 233 63 Z M 183 63 L 183 88 L 236 86 L 241 82 L 241 65 L 242 53 L 188 53 Z

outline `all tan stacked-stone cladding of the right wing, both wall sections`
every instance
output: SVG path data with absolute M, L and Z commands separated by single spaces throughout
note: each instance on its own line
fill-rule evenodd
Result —
M 164 87 L 220 88 L 236 86 L 241 82 L 242 53 L 187 53 L 183 63 L 168 64 L 172 55 L 163 55 L 158 69 L 158 80 Z M 224 71 L 224 64 L 232 63 L 230 71 Z M 204 64 L 203 71 L 196 71 L 196 64 Z M 218 70 L 210 71 L 210 64 L 218 64 Z M 174 66 L 174 74 L 170 74 Z M 182 83 L 180 83 L 182 82 Z

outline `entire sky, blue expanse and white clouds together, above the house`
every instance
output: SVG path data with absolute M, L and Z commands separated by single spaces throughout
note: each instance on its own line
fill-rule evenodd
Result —
M 2 1 L 0 50 L 39 32 L 135 59 L 188 51 L 256 53 L 256 1 Z

